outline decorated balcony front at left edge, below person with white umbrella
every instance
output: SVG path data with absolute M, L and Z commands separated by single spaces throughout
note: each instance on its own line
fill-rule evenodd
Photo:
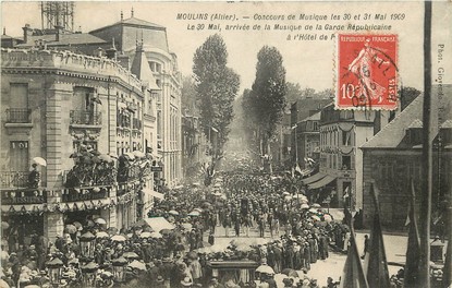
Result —
M 47 203 L 47 191 L 36 189 L 2 191 L 2 205 L 24 205 Z

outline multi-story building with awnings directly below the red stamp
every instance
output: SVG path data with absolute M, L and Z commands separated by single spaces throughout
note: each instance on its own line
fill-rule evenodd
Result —
M 376 119 L 381 118 L 371 110 L 335 110 L 334 104 L 321 110 L 319 172 L 303 180 L 314 201 L 329 197 L 332 206 L 363 208 L 363 152 L 358 147 L 374 136 Z

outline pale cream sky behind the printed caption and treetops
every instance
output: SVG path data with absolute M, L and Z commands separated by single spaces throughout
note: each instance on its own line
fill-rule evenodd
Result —
M 423 19 L 424 4 L 422 2 L 380 2 L 380 3 L 347 3 L 343 2 L 82 2 L 75 4 L 75 27 L 81 26 L 83 32 L 89 32 L 105 25 L 120 21 L 121 11 L 124 19 L 134 16 L 167 27 L 170 50 L 178 55 L 179 68 L 184 75 L 192 74 L 193 56 L 197 47 L 205 39 L 216 33 L 207 29 L 209 21 L 176 20 L 179 13 L 227 13 L 235 14 L 239 19 L 232 24 L 261 25 L 273 24 L 364 24 L 366 22 L 340 20 L 328 22 L 298 21 L 264 21 L 255 16 L 288 15 L 298 16 L 302 13 L 328 15 L 331 13 L 363 14 L 363 13 L 404 13 L 403 21 L 372 21 L 372 24 L 392 25 L 390 33 L 399 34 L 399 68 L 403 85 L 422 88 L 423 86 Z M 450 8 L 451 5 L 449 5 Z M 439 12 L 442 8 L 435 8 Z M 437 13 L 439 13 L 437 11 Z M 249 19 L 244 19 L 249 16 Z M 450 16 L 450 15 L 449 15 Z M 436 20 L 444 21 L 443 17 Z M 1 24 L 10 36 L 21 36 L 25 23 L 32 27 L 40 28 L 40 10 L 38 2 L 8 2 L 1 3 Z M 286 69 L 286 80 L 298 83 L 303 88 L 310 87 L 316 91 L 333 88 L 334 85 L 334 52 L 335 40 L 286 40 L 290 32 L 281 31 L 225 31 L 228 21 L 218 21 L 222 29 L 228 52 L 228 65 L 241 76 L 241 91 L 251 88 L 256 73 L 257 52 L 265 45 L 274 46 L 283 57 Z M 444 23 L 444 22 L 442 22 Z M 451 23 L 451 22 L 449 22 Z M 187 29 L 192 24 L 205 24 L 203 31 Z M 444 24 L 442 24 L 444 26 Z M 449 28 L 450 29 L 450 28 Z M 447 31 L 450 33 L 450 31 Z M 294 32 L 293 34 L 297 34 Z M 305 31 L 300 33 L 307 33 Z M 326 32 L 331 35 L 333 32 Z M 320 34 L 318 34 L 319 37 Z M 448 35 L 444 35 L 448 37 Z M 450 34 L 449 34 L 449 38 Z M 450 73 L 449 75 L 451 75 Z

